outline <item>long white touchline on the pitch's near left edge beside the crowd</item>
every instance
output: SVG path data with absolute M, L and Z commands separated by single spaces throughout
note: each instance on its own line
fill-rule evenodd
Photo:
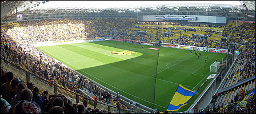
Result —
M 43 49 L 42 49 L 43 50 Z M 45 51 L 45 50 L 43 50 L 43 51 Z M 47 51 L 45 51 L 45 52 L 47 52 Z M 49 53 L 49 52 L 48 52 Z M 49 53 L 50 54 L 50 53 Z M 53 54 L 51 54 L 51 55 L 53 55 Z M 55 55 L 53 55 L 53 56 L 55 56 Z M 56 58 L 58 58 L 57 56 L 55 56 Z M 60 58 L 58 58 L 58 59 L 60 59 Z M 60 60 L 62 60 L 62 59 L 60 59 Z M 65 62 L 64 60 L 62 60 L 63 62 Z M 67 63 L 67 62 L 66 62 Z M 67 63 L 67 64 L 69 64 L 69 63 Z M 69 64 L 70 66 L 73 66 L 73 65 L 71 65 L 71 64 Z M 73 66 L 74 67 L 74 66 Z M 77 68 L 77 67 L 74 67 L 74 68 Z M 77 70 L 79 70 L 78 68 L 77 68 Z M 82 70 L 79 70 L 79 71 L 82 71 Z M 85 72 L 85 71 L 82 71 L 82 72 Z M 90 75 L 90 74 L 88 74 L 87 72 L 85 72 L 85 74 L 87 74 L 87 75 Z M 95 78 L 93 75 L 90 75 L 90 76 L 92 76 L 93 78 Z M 101 82 L 103 82 L 102 80 L 100 80 L 100 79 L 98 79 L 98 78 L 95 78 L 95 79 L 97 79 L 97 80 L 99 80 L 99 81 L 101 81 Z M 108 84 L 108 83 L 106 83 L 106 82 L 103 82 L 103 83 L 105 83 L 105 84 L 107 84 L 107 85 L 109 85 L 109 86 L 111 86 L 110 84 Z M 111 86 L 111 87 L 113 87 L 113 88 L 115 88 L 115 89 L 118 89 L 119 91 L 122 91 L 121 89 L 119 89 L 119 88 L 116 88 L 116 87 L 114 87 L 114 86 Z M 141 99 L 141 98 L 139 98 L 139 97 L 137 97 L 137 96 L 134 96 L 134 95 L 131 95 L 130 93 L 127 93 L 127 92 L 125 92 L 125 91 L 122 91 L 122 92 L 124 92 L 124 93 L 126 93 L 126 94 L 128 94 L 128 95 L 130 95 L 130 96 L 133 96 L 133 97 L 136 97 L 136 98 L 138 98 L 138 99 Z M 151 103 L 150 101 L 147 101 L 147 100 L 144 100 L 144 99 L 141 99 L 141 100 L 143 100 L 143 101 L 146 101 L 147 103 Z M 151 104 L 153 104 L 153 103 L 151 103 Z M 158 105 L 158 104 L 155 104 L 155 105 Z M 162 108 L 166 108 L 166 107 L 163 107 L 163 106 L 161 106 L 161 105 L 158 105 L 159 107 L 162 107 Z

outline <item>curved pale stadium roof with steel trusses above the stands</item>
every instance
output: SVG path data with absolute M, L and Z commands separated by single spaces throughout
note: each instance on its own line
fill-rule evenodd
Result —
M 165 14 L 219 16 L 227 17 L 228 20 L 235 20 L 238 17 L 238 20 L 247 20 L 246 12 L 255 12 L 255 1 L 228 1 L 227 3 L 225 1 L 199 1 L 199 3 L 197 1 L 57 2 L 58 5 L 55 4 L 55 1 L 1 1 L 1 22 L 15 21 L 17 16 L 12 15 L 10 17 L 10 13 L 13 13 L 13 9 L 16 7 L 17 12 L 23 14 L 23 19 L 26 20 L 42 18 L 137 18 L 138 15 Z M 69 4 L 61 7 L 60 2 Z M 107 4 L 108 2 L 109 4 Z

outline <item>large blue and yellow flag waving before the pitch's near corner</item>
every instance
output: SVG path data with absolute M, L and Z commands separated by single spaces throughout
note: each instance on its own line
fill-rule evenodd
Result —
M 179 84 L 179 87 L 174 93 L 173 99 L 171 99 L 166 111 L 178 111 L 179 108 L 189 103 L 189 99 L 195 94 L 198 94 L 198 92 L 191 91 L 190 89 L 187 89 Z

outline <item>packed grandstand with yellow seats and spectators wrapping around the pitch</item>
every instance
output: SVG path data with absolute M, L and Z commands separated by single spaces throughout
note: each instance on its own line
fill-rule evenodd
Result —
M 188 110 L 194 113 L 255 113 L 255 20 L 228 20 L 223 25 L 138 21 L 136 18 L 1 21 L 1 113 L 29 112 L 29 109 L 18 110 L 24 102 L 38 107 L 31 111 L 36 113 L 165 112 L 147 110 L 137 103 L 122 100 L 118 93 L 101 88 L 98 83 L 34 46 L 42 42 L 97 39 L 121 39 L 123 42 L 135 40 L 155 46 L 173 44 L 224 50 L 234 46 L 233 50 L 238 51 L 239 55 L 234 56 L 225 74 L 215 80 L 215 83 L 223 84 L 219 84 L 216 94 L 210 96 L 211 103 L 203 109 L 191 105 Z M 227 89 L 229 87 L 233 88 Z M 253 89 L 253 95 L 243 107 L 240 102 Z

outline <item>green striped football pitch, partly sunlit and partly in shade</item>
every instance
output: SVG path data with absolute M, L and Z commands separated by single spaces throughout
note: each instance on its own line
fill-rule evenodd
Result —
M 136 45 L 136 47 L 135 47 Z M 143 48 L 142 48 L 143 46 Z M 159 111 L 165 111 L 179 84 L 196 90 L 210 74 L 210 65 L 226 54 L 123 43 L 114 40 L 37 47 L 46 54 L 98 82 L 112 91 Z M 131 51 L 131 55 L 113 55 L 111 51 Z M 205 63 L 205 59 L 207 62 Z M 200 94 L 211 82 L 207 80 Z M 186 111 L 197 99 L 195 94 Z

